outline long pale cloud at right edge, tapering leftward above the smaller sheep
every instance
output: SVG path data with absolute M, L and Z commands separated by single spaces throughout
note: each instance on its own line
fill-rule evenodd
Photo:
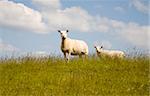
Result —
M 100 22 L 103 22 L 103 20 L 100 20 Z M 106 26 L 106 32 L 113 33 L 113 36 L 122 39 L 123 42 L 128 41 L 136 47 L 149 49 L 150 26 L 142 26 L 134 22 L 125 23 L 108 18 L 105 18 L 105 23 L 102 24 Z

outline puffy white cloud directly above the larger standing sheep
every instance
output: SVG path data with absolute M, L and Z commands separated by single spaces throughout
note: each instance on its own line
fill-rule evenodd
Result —
M 47 14 L 48 25 L 53 26 L 55 29 L 68 28 L 80 32 L 87 32 L 90 30 L 91 20 L 92 17 L 88 12 L 80 7 L 66 8 L 52 14 Z

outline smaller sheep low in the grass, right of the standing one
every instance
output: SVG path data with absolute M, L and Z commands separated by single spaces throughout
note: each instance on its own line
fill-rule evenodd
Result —
M 110 57 L 110 58 L 124 58 L 125 53 L 118 50 L 104 50 L 103 46 L 94 46 L 96 49 L 97 56 L 99 57 Z

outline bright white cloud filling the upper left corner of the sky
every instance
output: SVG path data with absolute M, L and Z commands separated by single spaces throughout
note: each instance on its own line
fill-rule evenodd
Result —
M 0 27 L 31 30 L 37 33 L 46 32 L 42 16 L 38 11 L 7 0 L 0 1 Z

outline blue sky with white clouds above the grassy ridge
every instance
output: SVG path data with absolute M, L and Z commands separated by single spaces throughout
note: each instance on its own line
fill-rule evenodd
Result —
M 148 0 L 0 0 L 0 57 L 62 55 L 57 30 L 105 49 L 149 50 Z

